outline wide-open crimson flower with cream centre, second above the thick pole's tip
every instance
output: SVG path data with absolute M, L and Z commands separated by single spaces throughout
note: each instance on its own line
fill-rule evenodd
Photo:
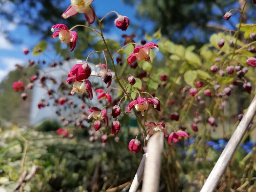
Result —
M 144 116 L 144 111 L 148 109 L 148 106 L 152 105 L 158 111 L 160 111 L 160 101 L 158 98 L 142 98 L 138 97 L 136 100 L 133 100 L 126 108 L 127 113 L 130 113 L 133 107 L 136 108 L 137 111 L 141 112 L 141 115 Z

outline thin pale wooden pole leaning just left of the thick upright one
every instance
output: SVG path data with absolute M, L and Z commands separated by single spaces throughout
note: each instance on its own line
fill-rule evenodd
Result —
M 140 182 L 142 180 L 142 177 L 143 177 L 143 172 L 144 172 L 144 167 L 145 167 L 145 161 L 146 161 L 146 158 L 147 158 L 148 154 L 145 153 L 143 156 L 142 156 L 142 159 L 140 161 L 140 165 L 139 165 L 139 168 L 134 176 L 134 179 L 132 181 L 132 185 L 130 187 L 130 190 L 129 192 L 136 192 L 140 186 Z

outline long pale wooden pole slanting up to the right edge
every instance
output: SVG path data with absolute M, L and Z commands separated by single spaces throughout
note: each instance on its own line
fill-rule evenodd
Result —
M 205 181 L 204 186 L 201 189 L 201 192 L 214 191 L 220 178 L 225 172 L 229 162 L 231 161 L 232 156 L 236 151 L 236 148 L 238 147 L 242 138 L 244 137 L 244 134 L 247 131 L 248 126 L 252 122 L 252 119 L 255 116 L 255 112 L 256 112 L 256 96 L 254 96 L 244 117 L 236 127 L 235 132 L 233 133 L 230 140 L 228 141 L 228 144 L 226 145 L 223 152 L 221 153 L 220 158 L 218 159 L 217 163 L 212 169 L 212 172 L 210 173 L 207 180 Z

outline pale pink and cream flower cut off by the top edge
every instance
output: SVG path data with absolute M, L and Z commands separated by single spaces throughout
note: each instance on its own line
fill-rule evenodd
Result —
M 95 20 L 95 13 L 90 7 L 90 4 L 94 0 L 72 0 L 71 5 L 61 15 L 64 19 L 67 19 L 76 13 L 84 13 L 85 19 L 89 24 L 92 24 Z

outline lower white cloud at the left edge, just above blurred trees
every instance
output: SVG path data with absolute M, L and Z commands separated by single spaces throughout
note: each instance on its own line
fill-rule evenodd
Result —
M 5 76 L 12 70 L 14 70 L 15 64 L 23 64 L 24 60 L 13 58 L 13 57 L 2 57 L 0 59 L 0 82 L 4 79 Z

